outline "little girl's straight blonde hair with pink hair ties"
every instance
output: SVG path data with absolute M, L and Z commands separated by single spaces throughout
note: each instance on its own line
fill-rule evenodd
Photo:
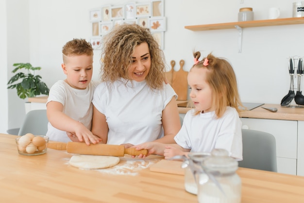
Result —
M 200 52 L 193 53 L 196 61 L 201 56 Z M 217 58 L 209 53 L 202 61 L 197 62 L 192 68 L 206 68 L 206 82 L 212 90 L 212 107 L 218 118 L 222 117 L 227 106 L 236 108 L 240 113 L 239 106 L 242 103 L 237 90 L 237 82 L 235 72 L 228 61 L 224 58 Z M 199 112 L 196 112 L 197 114 Z

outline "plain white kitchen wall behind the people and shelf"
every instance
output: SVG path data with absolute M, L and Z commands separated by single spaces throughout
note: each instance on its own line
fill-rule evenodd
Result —
M 212 51 L 216 56 L 227 58 L 233 65 L 242 101 L 280 103 L 289 89 L 287 57 L 304 56 L 304 24 L 245 28 L 241 53 L 238 53 L 236 29 L 193 32 L 184 26 L 235 22 L 241 7 L 253 7 L 255 20 L 267 19 L 270 7 L 279 7 L 282 18 L 292 17 L 293 1 L 243 0 L 240 3 L 241 0 L 165 0 L 167 32 L 164 53 L 168 68 L 171 60 L 178 62 L 184 59 L 184 68 L 189 70 L 194 49 L 202 51 L 203 55 Z M 39 74 L 51 87 L 57 80 L 65 78 L 61 70 L 62 46 L 72 38 L 89 39 L 91 35 L 89 9 L 125 2 L 130 1 L 1 1 L 0 27 L 1 31 L 3 28 L 6 32 L 0 33 L 5 44 L 4 47 L 2 43 L 0 46 L 0 93 L 3 100 L 0 101 L 0 109 L 1 116 L 4 115 L 0 118 L 0 133 L 20 127 L 25 116 L 24 101 L 17 98 L 15 89 L 6 89 L 6 83 L 12 76 L 12 65 L 30 62 L 42 67 Z M 5 6 L 6 9 L 3 9 Z M 98 80 L 100 51 L 94 54 L 93 79 Z M 178 68 L 177 63 L 175 69 Z

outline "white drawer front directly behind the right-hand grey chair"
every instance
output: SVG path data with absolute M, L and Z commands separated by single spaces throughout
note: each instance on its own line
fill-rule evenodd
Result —
M 241 118 L 243 128 L 274 135 L 277 157 L 297 159 L 298 121 Z M 245 127 L 246 126 L 246 127 Z

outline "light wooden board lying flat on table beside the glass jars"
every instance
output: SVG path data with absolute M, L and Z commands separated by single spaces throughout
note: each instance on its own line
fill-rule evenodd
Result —
M 154 172 L 184 175 L 185 169 L 182 169 L 181 165 L 182 165 L 181 161 L 172 161 L 172 160 L 162 159 L 159 162 L 157 162 L 156 164 L 153 164 L 150 167 L 150 170 L 154 171 Z

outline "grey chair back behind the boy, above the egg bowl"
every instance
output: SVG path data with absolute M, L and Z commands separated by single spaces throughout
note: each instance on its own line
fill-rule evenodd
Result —
M 48 131 L 48 117 L 46 109 L 29 111 L 24 118 L 18 135 L 32 133 L 34 135 L 46 135 Z

